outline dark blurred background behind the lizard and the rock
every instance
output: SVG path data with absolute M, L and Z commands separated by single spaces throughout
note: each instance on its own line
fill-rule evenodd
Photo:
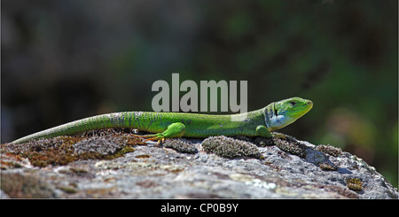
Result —
M 350 151 L 397 187 L 398 2 L 3 0 L 1 142 L 151 111 L 154 81 L 248 82 L 248 110 L 314 108 L 281 129 Z

